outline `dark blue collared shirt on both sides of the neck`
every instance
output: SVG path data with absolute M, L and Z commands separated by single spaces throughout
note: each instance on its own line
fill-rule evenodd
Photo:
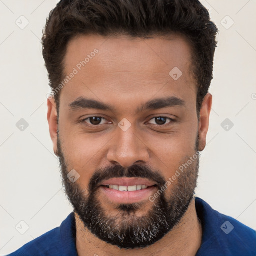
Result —
M 232 217 L 213 210 L 196 197 L 197 216 L 202 224 L 202 242 L 196 256 L 255 256 L 256 232 Z M 56 227 L 26 243 L 10 256 L 78 256 L 75 247 L 75 217 L 71 212 Z

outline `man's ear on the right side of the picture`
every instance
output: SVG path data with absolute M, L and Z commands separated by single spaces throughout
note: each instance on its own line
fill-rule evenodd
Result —
M 206 146 L 206 135 L 209 127 L 209 117 L 212 103 L 212 95 L 207 93 L 202 101 L 200 109 L 200 120 L 198 125 L 199 145 L 198 150 L 202 151 Z

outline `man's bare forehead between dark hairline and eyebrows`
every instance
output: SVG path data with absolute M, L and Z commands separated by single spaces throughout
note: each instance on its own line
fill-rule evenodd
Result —
M 75 73 L 62 88 L 66 104 L 88 94 L 106 102 L 143 101 L 156 93 L 183 99 L 196 94 L 191 48 L 176 34 L 150 39 L 80 35 L 67 44 L 63 62 L 65 75 Z M 172 70 L 180 78 L 173 79 Z

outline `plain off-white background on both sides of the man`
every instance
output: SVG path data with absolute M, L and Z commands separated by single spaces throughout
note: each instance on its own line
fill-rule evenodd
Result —
M 72 211 L 48 131 L 50 89 L 40 44 L 46 17 L 57 2 L 0 0 L 0 255 L 59 226 Z M 196 194 L 256 229 L 256 2 L 201 2 L 219 35 Z M 21 29 L 16 20 L 19 26 L 29 24 Z M 23 131 L 16 127 L 21 118 L 28 123 Z M 226 118 L 233 123 L 228 131 L 221 126 Z M 24 234 L 15 229 L 20 221 L 29 227 Z

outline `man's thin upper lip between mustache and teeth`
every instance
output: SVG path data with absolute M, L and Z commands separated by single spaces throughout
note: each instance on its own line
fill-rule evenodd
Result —
M 100 185 L 120 185 L 120 186 L 133 186 L 133 185 L 146 185 L 146 186 L 153 186 L 156 185 L 156 182 L 150 181 L 145 178 L 128 178 L 128 177 L 122 177 L 122 178 L 110 178 L 107 180 L 104 180 Z

